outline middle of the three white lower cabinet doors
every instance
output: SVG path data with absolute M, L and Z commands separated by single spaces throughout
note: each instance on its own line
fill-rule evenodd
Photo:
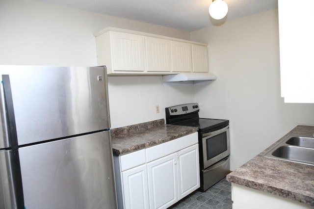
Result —
M 166 209 L 178 201 L 177 153 L 147 163 L 150 209 Z

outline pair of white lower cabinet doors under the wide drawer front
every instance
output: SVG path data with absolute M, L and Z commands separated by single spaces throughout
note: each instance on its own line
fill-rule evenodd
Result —
M 147 164 L 151 209 L 166 209 L 200 187 L 198 144 Z

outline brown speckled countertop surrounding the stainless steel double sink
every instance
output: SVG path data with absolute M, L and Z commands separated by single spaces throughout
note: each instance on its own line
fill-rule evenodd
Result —
M 284 137 L 287 135 L 313 137 L 313 133 L 314 126 L 297 126 Z M 227 180 L 314 206 L 314 166 L 263 156 L 281 139 L 228 174 Z

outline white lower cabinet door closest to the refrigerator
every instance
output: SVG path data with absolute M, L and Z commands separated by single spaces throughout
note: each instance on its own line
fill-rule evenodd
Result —
M 125 209 L 148 209 L 146 164 L 122 172 L 122 178 Z

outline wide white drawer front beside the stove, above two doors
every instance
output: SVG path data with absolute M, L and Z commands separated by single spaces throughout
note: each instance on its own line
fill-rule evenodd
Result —
M 149 147 L 146 149 L 146 162 L 151 162 L 160 157 L 175 153 L 196 143 L 198 143 L 197 132 L 188 134 L 178 139 L 174 139 L 172 141 L 158 144 L 154 147 Z

